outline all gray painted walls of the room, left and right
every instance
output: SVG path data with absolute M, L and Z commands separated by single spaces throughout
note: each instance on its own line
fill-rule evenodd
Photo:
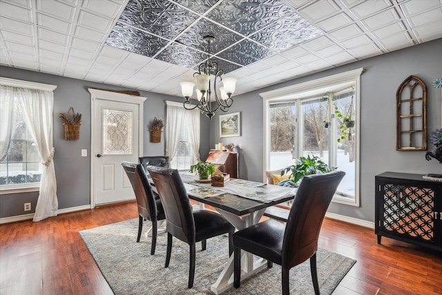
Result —
M 262 155 L 263 109 L 259 93 L 363 67 L 365 73 L 361 75 L 361 207 L 332 204 L 329 211 L 373 221 L 374 175 L 383 171 L 442 172 L 442 164 L 436 160 L 427 162 L 424 158 L 424 151 L 396 151 L 395 121 L 396 90 L 406 77 L 416 75 L 427 84 L 428 131 L 440 128 L 441 90 L 432 88 L 431 83 L 434 79 L 442 77 L 441 49 L 442 39 L 438 39 L 263 88 L 259 91 L 238 95 L 235 97 L 235 102 L 229 113 L 241 112 L 241 136 L 220 138 L 218 114 L 213 117 L 211 122 L 202 115 L 201 158 L 205 160 L 209 149 L 213 148 L 215 143 L 234 142 L 238 145 L 240 177 L 262 181 L 264 169 Z M 126 89 L 4 66 L 0 66 L 0 75 L 57 85 L 54 92 L 54 160 L 59 208 L 90 204 L 90 94 L 87 88 Z M 241 85 L 239 84 L 237 87 L 240 88 Z M 147 126 L 155 116 L 166 117 L 164 100 L 182 102 L 182 98 L 144 91 L 141 91 L 141 95 L 147 97 L 144 104 L 144 155 L 164 154 L 164 137 L 159 144 L 151 143 Z M 64 140 L 63 126 L 58 118 L 59 112 L 68 111 L 70 106 L 74 106 L 76 112 L 84 115 L 80 139 L 76 141 Z M 429 147 L 432 149 L 431 143 Z M 81 149 L 88 150 L 88 157 L 81 158 Z M 0 196 L 0 218 L 25 213 L 23 212 L 24 202 L 32 202 L 32 208 L 35 208 L 37 196 L 38 193 Z

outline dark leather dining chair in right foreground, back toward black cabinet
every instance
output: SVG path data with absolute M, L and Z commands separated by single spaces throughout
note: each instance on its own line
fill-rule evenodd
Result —
M 241 249 L 282 267 L 282 294 L 289 294 L 289 270 L 310 258 L 315 294 L 319 294 L 316 251 L 320 227 L 345 172 L 334 171 L 302 178 L 286 225 L 266 220 L 233 234 L 234 282 L 240 287 Z

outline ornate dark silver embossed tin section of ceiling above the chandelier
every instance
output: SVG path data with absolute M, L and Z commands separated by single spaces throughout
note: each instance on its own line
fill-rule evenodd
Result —
M 106 44 L 198 68 L 213 35 L 211 54 L 229 73 L 320 34 L 280 0 L 129 0 Z

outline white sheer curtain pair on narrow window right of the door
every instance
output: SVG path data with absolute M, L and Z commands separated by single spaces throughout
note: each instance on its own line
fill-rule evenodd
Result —
M 200 111 L 189 111 L 177 102 L 166 102 L 166 155 L 173 160 L 180 142 L 180 131 L 187 127 L 193 158 L 200 160 Z

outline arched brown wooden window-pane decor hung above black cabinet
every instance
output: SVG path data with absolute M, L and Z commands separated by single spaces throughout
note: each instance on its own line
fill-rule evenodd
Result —
M 396 150 L 427 149 L 427 86 L 416 76 L 396 91 Z

